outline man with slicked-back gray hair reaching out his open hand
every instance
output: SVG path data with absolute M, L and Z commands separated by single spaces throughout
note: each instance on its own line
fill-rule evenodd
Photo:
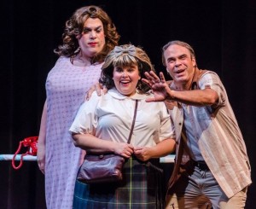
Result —
M 154 92 L 147 102 L 166 102 L 176 131 L 166 208 L 244 208 L 251 167 L 224 85 L 216 73 L 197 67 L 187 43 L 166 44 L 162 60 L 171 83 L 154 72 L 143 82 Z

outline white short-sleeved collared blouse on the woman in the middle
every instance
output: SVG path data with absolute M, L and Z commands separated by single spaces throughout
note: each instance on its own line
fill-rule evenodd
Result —
M 127 97 L 115 88 L 102 96 L 97 96 L 94 92 L 90 100 L 79 108 L 69 131 L 90 133 L 113 142 L 127 142 L 137 99 L 137 118 L 131 144 L 136 147 L 153 147 L 156 143 L 175 135 L 165 103 L 145 102 L 145 99 L 151 96 L 153 95 L 136 93 Z

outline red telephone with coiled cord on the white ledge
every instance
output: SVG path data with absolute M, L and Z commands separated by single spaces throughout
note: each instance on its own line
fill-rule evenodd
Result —
M 20 148 L 21 146 L 24 147 L 28 147 L 28 150 L 26 151 L 25 154 L 21 154 L 20 156 L 20 165 L 15 166 L 15 157 L 17 154 L 19 154 L 20 152 Z M 15 170 L 18 170 L 21 165 L 23 164 L 23 157 L 27 154 L 36 156 L 38 153 L 38 136 L 30 136 L 30 137 L 26 137 L 23 141 L 20 141 L 20 145 L 19 148 L 17 149 L 17 151 L 14 154 L 13 160 L 12 160 L 12 165 L 14 167 Z

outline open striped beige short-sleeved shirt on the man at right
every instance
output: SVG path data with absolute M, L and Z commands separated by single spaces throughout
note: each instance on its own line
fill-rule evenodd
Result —
M 211 88 L 218 93 L 218 104 L 214 106 L 188 106 L 189 111 L 187 113 L 189 117 L 186 117 L 186 119 L 189 119 L 189 123 L 193 127 L 193 136 L 203 159 L 221 189 L 230 198 L 252 183 L 247 148 L 224 85 L 218 75 L 211 71 L 203 73 L 196 69 L 193 84 L 195 84 L 193 89 Z M 175 84 L 172 83 L 170 88 L 175 90 Z M 180 152 L 182 156 L 178 156 L 182 131 L 184 130 L 183 107 L 178 102 L 171 101 L 167 102 L 166 105 L 176 131 L 177 159 L 182 158 L 181 164 L 183 164 L 186 160 L 189 160 L 189 154 L 186 154 L 184 150 Z M 174 168 L 172 175 L 177 175 L 177 171 L 178 169 Z

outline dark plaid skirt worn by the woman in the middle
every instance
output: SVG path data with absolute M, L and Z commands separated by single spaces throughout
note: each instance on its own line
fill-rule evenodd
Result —
M 73 208 L 161 209 L 164 207 L 163 173 L 159 159 L 147 163 L 130 158 L 119 183 L 75 184 Z

